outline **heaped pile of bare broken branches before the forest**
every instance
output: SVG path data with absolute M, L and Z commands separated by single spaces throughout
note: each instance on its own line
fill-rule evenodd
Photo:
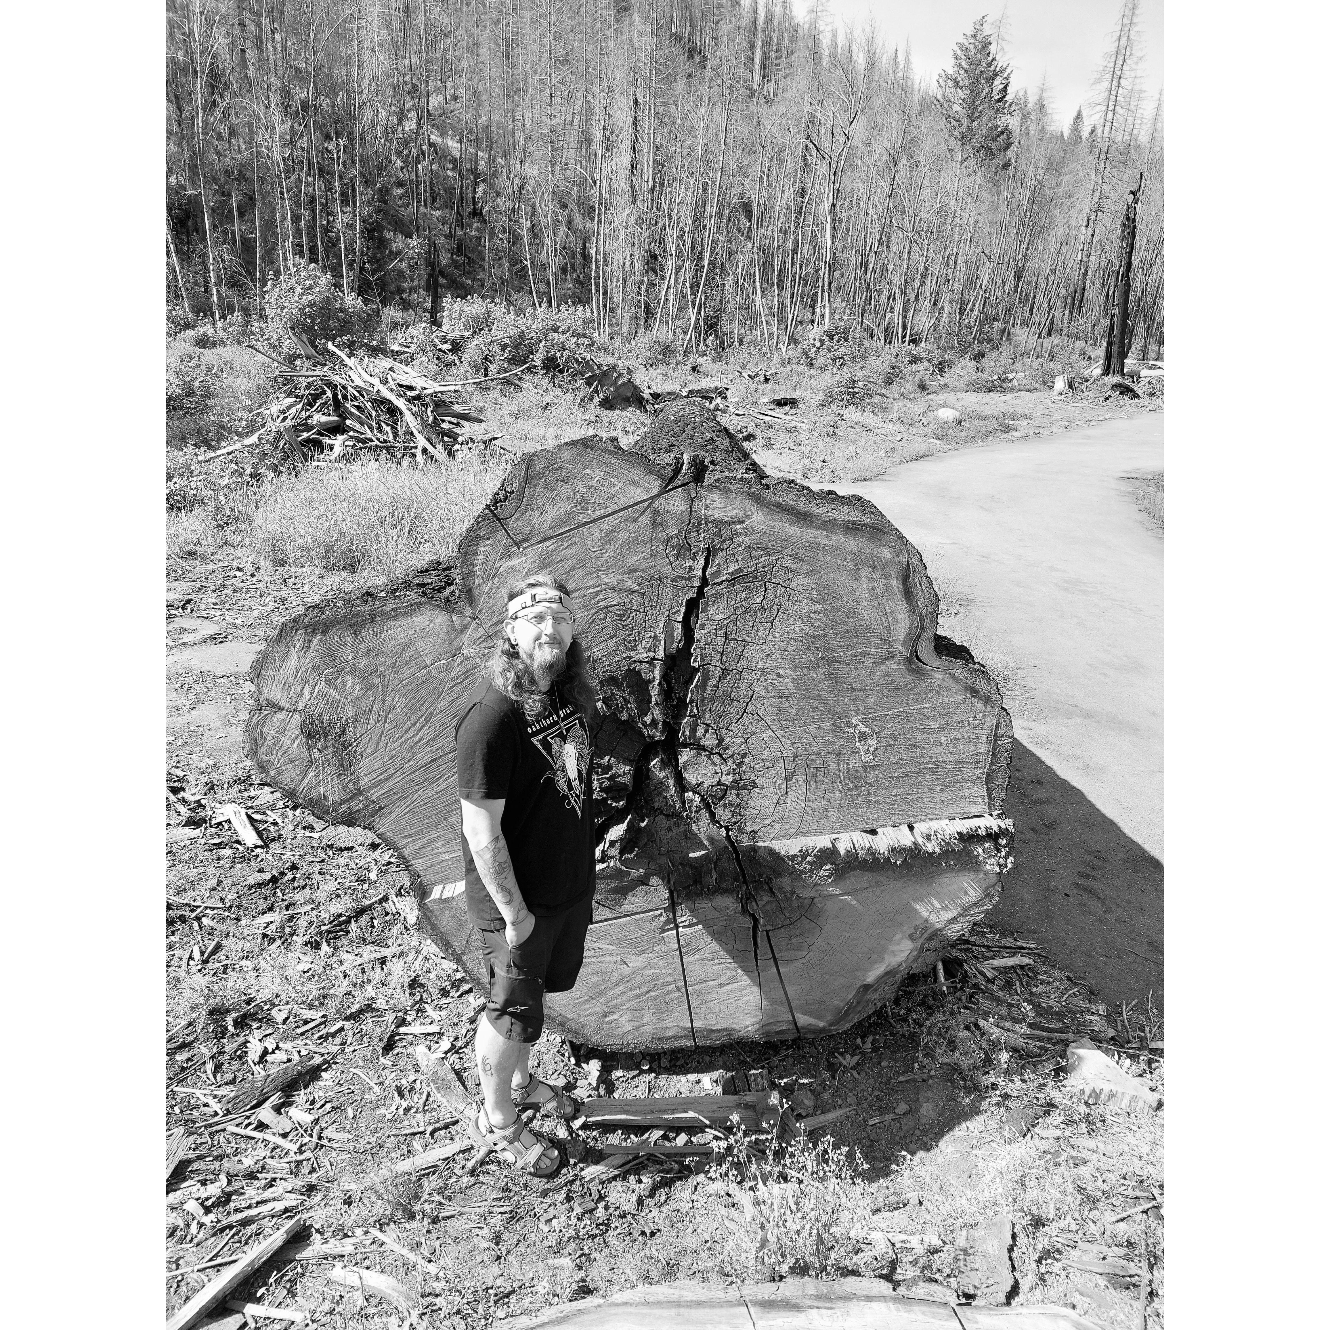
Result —
M 305 362 L 278 362 L 285 391 L 265 410 L 263 428 L 211 456 L 275 438 L 297 462 L 314 455 L 332 460 L 348 448 L 411 451 L 418 459 L 430 454 L 443 462 L 462 442 L 463 426 L 481 423 L 452 399 L 454 390 L 466 384 L 436 383 L 387 356 L 356 358 L 331 343 L 321 356 L 302 338 L 295 340 Z

